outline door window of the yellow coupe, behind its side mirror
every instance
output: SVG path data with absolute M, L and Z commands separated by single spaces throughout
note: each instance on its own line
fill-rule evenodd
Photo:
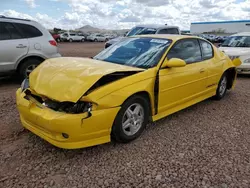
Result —
M 184 39 L 178 41 L 168 52 L 167 58 L 179 58 L 187 64 L 201 61 L 201 50 L 198 40 Z

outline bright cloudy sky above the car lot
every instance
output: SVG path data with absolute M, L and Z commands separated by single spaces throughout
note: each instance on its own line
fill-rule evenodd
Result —
M 1 0 L 0 15 L 28 18 L 48 29 L 129 29 L 192 22 L 250 19 L 250 0 Z

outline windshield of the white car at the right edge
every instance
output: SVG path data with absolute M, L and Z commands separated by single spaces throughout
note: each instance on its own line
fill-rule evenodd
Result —
M 222 43 L 222 47 L 250 47 L 250 36 L 232 36 Z

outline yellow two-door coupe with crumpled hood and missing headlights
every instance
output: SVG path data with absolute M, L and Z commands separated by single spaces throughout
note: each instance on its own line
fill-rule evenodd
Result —
M 130 142 L 156 121 L 234 87 L 236 66 L 192 36 L 125 38 L 93 58 L 54 58 L 16 92 L 23 126 L 60 148 Z

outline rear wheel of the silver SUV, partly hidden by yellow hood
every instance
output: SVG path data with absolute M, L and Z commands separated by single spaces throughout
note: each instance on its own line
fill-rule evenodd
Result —
M 29 77 L 29 74 L 40 64 L 42 59 L 30 58 L 24 61 L 19 68 L 19 74 L 24 79 Z

